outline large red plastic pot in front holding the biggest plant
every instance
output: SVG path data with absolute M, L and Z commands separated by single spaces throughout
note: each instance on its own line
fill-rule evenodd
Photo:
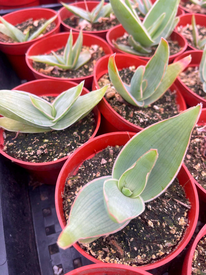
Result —
M 60 174 L 58 176 L 56 190 L 55 190 L 55 205 L 56 205 L 56 212 L 58 216 L 58 220 L 62 229 L 66 226 L 66 220 L 64 218 L 64 211 L 63 211 L 63 199 L 62 199 L 62 192 L 64 192 L 64 186 L 66 179 L 68 176 L 73 175 L 75 172 L 78 171 L 79 166 L 82 162 L 86 159 L 92 158 L 96 153 L 100 152 L 102 149 L 106 148 L 107 146 L 115 146 L 115 145 L 124 145 L 126 142 L 134 135 L 134 133 L 130 132 L 115 132 L 115 133 L 108 133 L 104 135 L 100 135 L 95 137 L 92 140 L 89 140 L 86 144 L 82 145 L 78 148 L 66 161 Z M 189 225 L 182 236 L 181 241 L 179 244 L 173 249 L 173 251 L 168 254 L 166 257 L 157 260 L 157 262 L 152 264 L 147 264 L 145 266 L 139 266 L 137 268 L 141 270 L 150 270 L 153 268 L 157 268 L 166 264 L 167 262 L 171 261 L 175 258 L 187 245 L 189 240 L 191 239 L 195 227 L 197 224 L 198 213 L 199 213 L 199 201 L 197 190 L 195 188 L 195 184 L 193 180 L 191 180 L 191 175 L 185 169 L 183 165 L 177 175 L 181 186 L 183 186 L 186 196 L 191 203 L 191 209 L 188 212 L 188 219 Z M 73 245 L 83 256 L 88 258 L 94 263 L 101 263 L 99 260 L 95 259 L 91 255 L 87 254 L 81 247 L 75 243 Z M 113 264 L 112 264 L 113 265 Z M 133 270 L 133 268 L 131 267 Z

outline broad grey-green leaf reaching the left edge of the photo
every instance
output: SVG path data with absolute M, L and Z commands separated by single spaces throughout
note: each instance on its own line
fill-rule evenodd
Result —
M 50 127 L 54 125 L 53 122 L 32 105 L 29 95 L 38 98 L 33 94 L 23 91 L 1 90 L 1 115 L 25 122 L 29 125 L 38 125 L 38 127 Z

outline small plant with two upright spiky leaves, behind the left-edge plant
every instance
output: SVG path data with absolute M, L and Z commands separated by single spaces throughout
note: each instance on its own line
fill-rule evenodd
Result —
M 73 45 L 73 35 L 72 30 L 70 30 L 70 35 L 67 40 L 66 46 L 64 48 L 63 55 L 56 54 L 56 52 L 51 51 L 52 55 L 33 55 L 29 56 L 28 58 L 41 62 L 46 63 L 51 66 L 57 66 L 64 70 L 77 70 L 81 66 L 83 66 L 86 62 L 90 60 L 92 55 L 89 51 L 85 50 L 81 52 L 83 44 L 83 34 L 82 30 L 79 32 L 78 38 Z

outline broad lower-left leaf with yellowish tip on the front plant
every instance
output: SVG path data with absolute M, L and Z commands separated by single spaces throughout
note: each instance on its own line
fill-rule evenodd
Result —
M 103 184 L 111 176 L 97 178 L 86 184 L 76 196 L 68 223 L 58 238 L 62 248 L 70 247 L 78 239 L 100 237 L 114 233 L 128 224 L 114 223 L 104 207 Z M 88 199 L 90 198 L 90 199 Z M 85 211 L 87 209 L 87 211 Z M 82 226 L 84 224 L 84 226 Z

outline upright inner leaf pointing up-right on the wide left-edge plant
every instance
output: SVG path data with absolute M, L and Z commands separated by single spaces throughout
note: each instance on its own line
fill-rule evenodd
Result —
M 53 122 L 57 122 L 66 113 L 68 113 L 69 109 L 72 107 L 72 104 L 78 99 L 79 95 L 82 92 L 84 85 L 84 81 L 82 81 L 79 85 L 68 89 L 61 97 L 57 97 L 54 102 L 53 106 L 56 110 L 56 117 L 53 119 Z

